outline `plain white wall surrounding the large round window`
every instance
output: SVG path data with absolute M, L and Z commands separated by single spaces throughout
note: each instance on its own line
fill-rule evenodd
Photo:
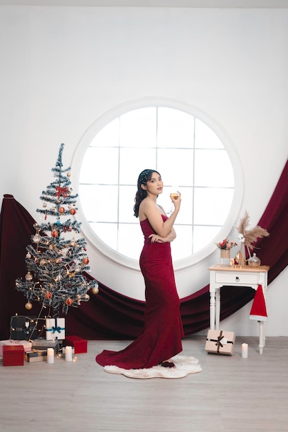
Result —
M 0 6 L 0 196 L 14 195 L 38 219 L 61 142 L 68 166 L 105 112 L 166 97 L 202 110 L 229 135 L 244 170 L 239 217 L 247 209 L 256 224 L 287 160 L 287 29 L 287 9 Z M 111 263 L 90 242 L 88 253 L 99 281 L 144 298 L 140 271 Z M 180 297 L 206 285 L 217 261 L 215 251 L 176 271 Z M 269 286 L 267 335 L 288 335 L 287 274 Z M 249 307 L 225 328 L 257 335 Z

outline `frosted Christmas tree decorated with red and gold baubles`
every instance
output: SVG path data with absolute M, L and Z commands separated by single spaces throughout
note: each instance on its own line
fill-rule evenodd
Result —
M 16 288 L 26 295 L 25 307 L 32 308 L 32 301 L 49 307 L 53 316 L 67 313 L 69 306 L 77 307 L 88 302 L 88 290 L 98 292 L 97 281 L 86 279 L 84 271 L 89 270 L 86 254 L 86 240 L 77 238 L 81 223 L 71 219 L 77 213 L 77 194 L 70 187 L 70 167 L 62 168 L 61 144 L 54 172 L 55 180 L 47 186 L 40 197 L 44 222 L 35 224 L 36 233 L 26 247 L 25 280 L 16 279 Z M 47 314 L 46 314 L 47 315 Z M 48 316 L 50 313 L 48 313 Z

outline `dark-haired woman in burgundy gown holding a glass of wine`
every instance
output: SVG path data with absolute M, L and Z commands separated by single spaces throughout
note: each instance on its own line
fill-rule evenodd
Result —
M 144 328 L 135 341 L 122 351 L 104 350 L 96 356 L 102 366 L 145 369 L 161 364 L 174 367 L 171 357 L 182 351 L 184 331 L 180 300 L 175 285 L 170 243 L 176 234 L 173 224 L 180 210 L 181 194 L 171 196 L 174 210 L 167 217 L 157 205 L 163 182 L 155 170 L 144 170 L 137 182 L 134 214 L 140 219 L 144 246 L 140 268 L 145 282 Z

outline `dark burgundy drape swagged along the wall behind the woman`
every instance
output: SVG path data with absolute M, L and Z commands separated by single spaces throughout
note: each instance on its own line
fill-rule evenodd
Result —
M 259 225 L 270 236 L 256 246 L 262 264 L 270 266 L 269 283 L 288 264 L 288 161 Z M 30 216 L 12 195 L 4 195 L 0 215 L 0 339 L 10 336 L 10 317 L 38 315 L 40 304 L 33 302 L 32 311 L 25 308 L 26 298 L 15 288 L 15 279 L 24 277 L 26 246 L 35 234 Z M 112 264 L 111 264 L 112 265 Z M 91 276 L 86 273 L 86 277 Z M 97 279 L 97 275 L 95 275 Z M 193 285 L 193 281 L 191 281 Z M 224 286 L 221 289 L 220 320 L 238 311 L 253 299 L 255 291 L 247 287 Z M 144 302 L 119 294 L 99 282 L 99 294 L 79 308 L 70 308 L 66 317 L 66 334 L 87 340 L 133 339 L 140 334 L 144 322 Z M 185 335 L 209 327 L 209 285 L 181 300 L 180 311 Z

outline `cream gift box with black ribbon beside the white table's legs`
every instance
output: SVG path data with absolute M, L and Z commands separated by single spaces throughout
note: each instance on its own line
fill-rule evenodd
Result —
M 235 344 L 233 331 L 209 330 L 205 351 L 211 354 L 232 355 Z

